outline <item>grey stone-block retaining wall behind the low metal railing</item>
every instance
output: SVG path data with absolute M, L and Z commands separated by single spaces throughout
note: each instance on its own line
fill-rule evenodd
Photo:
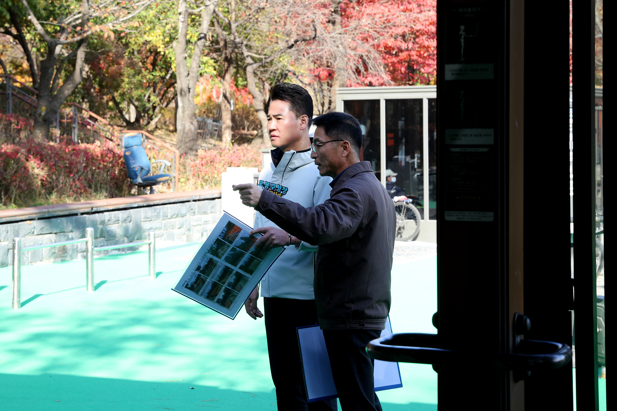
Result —
M 186 200 L 178 202 L 183 201 L 183 198 L 173 198 L 172 201 L 176 202 L 151 206 L 138 204 L 133 205 L 133 208 L 128 208 L 131 204 L 127 204 L 125 206 L 128 209 L 125 210 L 0 224 L 0 267 L 12 264 L 13 237 L 22 237 L 22 247 L 27 247 L 83 238 L 86 227 L 93 227 L 94 246 L 97 247 L 146 240 L 147 232 L 154 231 L 157 248 L 161 248 L 205 238 L 217 224 L 222 213 L 220 198 L 188 202 Z M 119 206 L 116 205 L 115 208 Z M 141 247 L 147 249 L 147 245 Z M 138 249 L 139 247 L 131 247 L 96 251 L 94 255 L 128 253 Z M 85 243 L 78 243 L 23 251 L 22 264 L 82 258 L 85 258 Z

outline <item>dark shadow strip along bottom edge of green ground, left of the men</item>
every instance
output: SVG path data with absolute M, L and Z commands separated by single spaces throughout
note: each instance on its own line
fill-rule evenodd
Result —
M 0 374 L 0 386 L 5 394 L 11 393 L 10 397 L 0 394 L 2 409 L 6 410 L 276 410 L 274 391 L 251 393 L 184 381 L 154 383 L 62 374 Z

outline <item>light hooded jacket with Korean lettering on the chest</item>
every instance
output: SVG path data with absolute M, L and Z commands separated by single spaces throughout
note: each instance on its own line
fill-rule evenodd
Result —
M 331 177 L 321 177 L 310 149 L 282 153 L 271 151 L 273 163 L 263 168 L 258 185 L 264 190 L 287 198 L 305 207 L 314 207 L 330 198 Z M 280 160 L 278 160 L 280 158 Z M 259 211 L 255 213 L 255 228 L 277 227 Z M 317 246 L 302 243 L 288 247 L 276 260 L 261 282 L 264 297 L 315 299 L 313 291 L 313 261 Z

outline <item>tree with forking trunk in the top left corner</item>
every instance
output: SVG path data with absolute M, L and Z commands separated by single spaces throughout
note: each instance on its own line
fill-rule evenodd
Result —
M 9 6 L 12 27 L 4 33 L 19 41 L 27 56 L 33 87 L 38 91 L 34 135 L 47 139 L 49 127 L 68 96 L 83 80 L 85 54 L 93 35 L 113 35 L 114 30 L 135 24 L 133 18 L 154 0 L 15 1 Z M 28 21 L 24 24 L 23 17 Z M 44 18 L 41 18 L 44 17 Z M 39 20 L 40 19 L 40 20 Z M 39 63 L 32 57 L 27 38 L 41 43 Z M 72 47 L 72 49 L 70 49 Z M 43 55 L 41 55 L 43 57 Z M 65 65 L 75 59 L 74 65 Z M 67 75 L 68 73 L 68 75 Z

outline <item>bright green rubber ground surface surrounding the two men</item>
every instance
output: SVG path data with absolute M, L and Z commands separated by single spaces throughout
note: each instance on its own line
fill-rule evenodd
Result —
M 276 410 L 261 320 L 227 319 L 170 290 L 197 245 L 22 267 L 22 308 L 10 309 L 0 268 L 0 408 L 20 411 Z M 262 304 L 263 305 L 263 304 Z M 392 270 L 394 332 L 436 332 L 436 258 Z M 384 410 L 437 410 L 430 365 L 400 364 L 403 388 Z

